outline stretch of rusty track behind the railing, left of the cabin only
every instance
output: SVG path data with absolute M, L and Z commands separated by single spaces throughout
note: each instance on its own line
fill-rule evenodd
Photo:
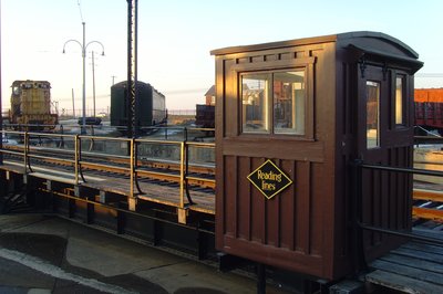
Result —
M 23 145 L 4 145 L 7 150 L 4 158 L 14 162 L 23 162 Z M 27 151 L 27 166 L 32 169 L 33 166 L 62 166 L 74 172 L 73 149 L 49 148 L 32 146 L 32 150 Z M 203 164 L 184 164 L 179 160 L 164 160 L 140 156 L 135 160 L 136 175 L 138 180 L 158 180 L 168 182 L 179 182 L 181 169 L 185 170 L 185 180 L 192 187 L 204 189 L 215 189 L 215 166 Z M 80 170 L 87 171 L 90 175 L 113 174 L 115 176 L 130 177 L 131 157 L 122 155 L 107 155 L 94 151 L 82 151 L 79 158 Z

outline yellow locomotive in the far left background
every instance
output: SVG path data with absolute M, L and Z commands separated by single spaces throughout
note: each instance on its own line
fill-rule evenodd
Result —
M 32 129 L 55 127 L 59 116 L 51 113 L 51 84 L 48 81 L 14 81 L 11 87 L 11 124 L 16 127 L 33 125 L 28 126 Z

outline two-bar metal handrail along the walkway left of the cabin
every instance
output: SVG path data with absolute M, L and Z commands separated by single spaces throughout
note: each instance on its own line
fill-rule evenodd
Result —
M 31 169 L 31 159 L 32 158 L 38 158 L 38 159 L 45 159 L 45 160 L 51 160 L 51 159 L 56 159 L 60 161 L 64 161 L 66 164 L 71 164 L 74 168 L 74 185 L 81 186 L 82 183 L 86 182 L 84 176 L 83 176 L 83 169 L 84 167 L 99 167 L 103 169 L 114 169 L 114 170 L 120 170 L 123 172 L 127 172 L 130 176 L 130 197 L 136 199 L 136 190 L 138 193 L 143 193 L 143 191 L 138 187 L 138 175 L 144 175 L 144 176 L 155 176 L 155 175 L 163 175 L 163 176 L 168 176 L 171 179 L 176 178 L 179 181 L 179 204 L 178 207 L 181 209 L 185 209 L 187 204 L 194 204 L 190 195 L 189 195 L 189 189 L 188 189 L 188 180 L 194 180 L 194 181 L 210 181 L 213 185 L 212 187 L 215 187 L 215 180 L 208 180 L 205 178 L 200 178 L 198 176 L 189 176 L 188 174 L 188 166 L 189 166 L 189 155 L 188 155 L 188 148 L 195 147 L 195 148 L 215 148 L 214 143 L 202 143 L 202 141 L 187 141 L 187 129 L 184 128 L 185 132 L 185 138 L 183 140 L 162 140 L 162 139 L 146 139 L 146 138 L 117 138 L 117 137 L 103 137 L 103 136 L 90 136 L 90 135 L 79 135 L 79 134 L 58 134 L 58 133 L 35 133 L 35 132 L 18 132 L 18 130 L 1 130 L 2 134 L 11 134 L 16 136 L 23 136 L 23 151 L 16 151 L 16 150 L 8 150 L 4 148 L 0 149 L 0 153 L 2 154 L 10 154 L 10 155 L 16 155 L 16 156 L 23 156 L 23 166 L 24 166 L 24 174 L 33 172 Z M 63 139 L 63 141 L 72 141 L 73 146 L 71 148 L 73 149 L 60 149 L 60 146 L 58 148 L 53 147 L 38 147 L 38 146 L 32 146 L 31 138 L 32 137 L 39 137 L 40 144 L 41 139 L 43 138 L 58 138 L 58 139 Z M 84 140 L 95 140 L 95 141 L 121 141 L 121 143 L 127 143 L 128 147 L 128 155 L 107 155 L 103 153 L 91 153 L 91 151 L 83 151 L 82 150 L 82 141 Z M 159 172 L 159 171 L 148 171 L 148 170 L 143 170 L 138 168 L 138 147 L 143 144 L 147 145 L 169 145 L 169 146 L 177 146 L 179 149 L 179 174 L 178 175 L 171 175 L 171 174 L 165 174 L 165 172 Z M 64 144 L 64 148 L 66 145 Z M 73 156 L 72 159 L 62 159 L 62 158 L 54 158 L 51 156 L 47 155 L 38 155 L 34 154 L 37 150 L 42 150 L 45 151 L 44 148 L 48 148 L 48 151 L 50 153 L 51 149 L 53 150 L 63 150 L 65 151 L 65 155 L 68 156 Z M 100 161 L 90 161 L 87 159 L 83 159 L 82 156 L 91 156 L 94 155 L 95 158 L 105 158 L 105 157 L 115 157 L 119 159 L 123 159 L 122 164 L 127 165 L 125 167 L 122 166 L 116 166 L 116 165 L 109 165 L 109 164 L 103 164 Z M 125 160 L 127 159 L 127 161 Z M 155 158 L 154 158 L 155 159 Z M 81 181 L 82 180 L 82 181 Z M 185 201 L 185 196 L 187 197 L 187 203 Z

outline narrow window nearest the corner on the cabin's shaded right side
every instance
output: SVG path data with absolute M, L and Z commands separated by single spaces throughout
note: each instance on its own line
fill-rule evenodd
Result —
M 380 146 L 380 83 L 367 81 L 367 147 Z

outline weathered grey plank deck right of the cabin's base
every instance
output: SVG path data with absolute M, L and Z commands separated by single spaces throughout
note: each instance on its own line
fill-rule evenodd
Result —
M 441 233 L 433 237 L 443 240 Z M 367 282 L 405 293 L 443 293 L 443 245 L 409 242 L 369 267 L 373 272 L 365 275 Z

